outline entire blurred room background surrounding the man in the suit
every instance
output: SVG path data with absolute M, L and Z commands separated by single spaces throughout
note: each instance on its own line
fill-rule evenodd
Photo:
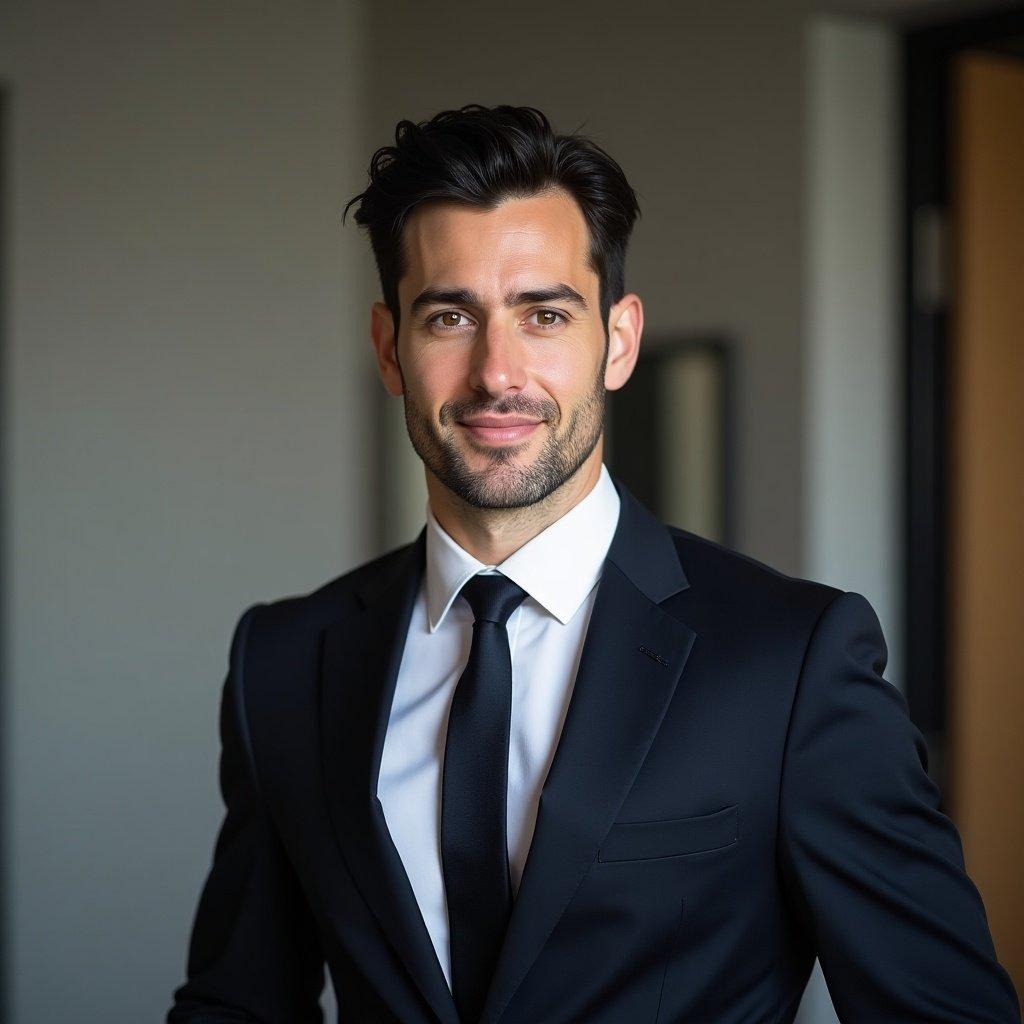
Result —
M 163 1019 L 231 628 L 422 524 L 341 211 L 399 119 L 467 102 L 623 165 L 609 464 L 871 601 L 1020 990 L 1021 5 L 3 0 L 0 1018 Z

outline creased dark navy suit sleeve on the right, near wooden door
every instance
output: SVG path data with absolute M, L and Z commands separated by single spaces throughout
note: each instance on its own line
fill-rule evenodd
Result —
M 844 1024 L 1016 1024 L 925 741 L 882 678 L 879 620 L 841 593 L 814 628 L 779 802 L 781 882 Z

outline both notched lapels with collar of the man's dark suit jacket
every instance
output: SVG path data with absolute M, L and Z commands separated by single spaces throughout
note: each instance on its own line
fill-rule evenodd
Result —
M 689 586 L 669 530 L 612 477 L 622 501 L 561 737 L 481 1024 L 496 1024 L 597 856 L 675 692 L 695 639 L 659 604 Z M 325 636 L 322 744 L 338 844 L 424 1020 L 458 1024 L 455 1001 L 377 799 L 377 778 L 425 528 L 357 590 Z M 382 995 L 388 997 L 388 987 Z M 429 1008 L 429 1010 L 426 1010 Z

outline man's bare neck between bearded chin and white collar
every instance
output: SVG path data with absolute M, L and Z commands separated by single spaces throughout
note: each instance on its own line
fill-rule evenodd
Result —
M 564 483 L 536 504 L 522 508 L 476 508 L 427 470 L 430 511 L 464 550 L 484 565 L 498 565 L 594 489 L 601 475 L 603 440 L 597 442 L 586 462 Z

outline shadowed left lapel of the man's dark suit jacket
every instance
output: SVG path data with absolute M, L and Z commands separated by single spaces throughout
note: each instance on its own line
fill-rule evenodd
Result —
M 361 608 L 326 633 L 322 748 L 331 819 L 359 890 L 437 1019 L 458 1024 L 455 1000 L 377 799 L 387 721 L 423 574 L 424 540 L 421 530 L 360 589 Z

